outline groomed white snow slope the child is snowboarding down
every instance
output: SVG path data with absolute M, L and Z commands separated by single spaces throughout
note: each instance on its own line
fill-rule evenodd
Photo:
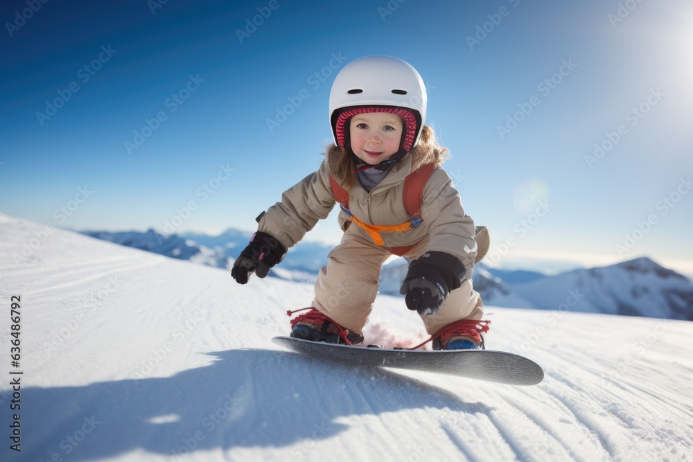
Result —
M 487 308 L 489 348 L 545 368 L 534 387 L 338 368 L 270 341 L 310 285 L 241 286 L 43 231 L 0 215 L 3 461 L 693 460 L 692 323 Z M 8 449 L 13 295 L 21 453 Z M 365 335 L 421 330 L 401 298 L 380 296 Z

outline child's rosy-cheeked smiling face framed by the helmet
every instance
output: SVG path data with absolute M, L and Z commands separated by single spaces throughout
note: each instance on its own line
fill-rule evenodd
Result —
M 358 114 L 349 123 L 351 150 L 365 163 L 377 165 L 399 150 L 402 130 L 400 116 L 387 112 Z

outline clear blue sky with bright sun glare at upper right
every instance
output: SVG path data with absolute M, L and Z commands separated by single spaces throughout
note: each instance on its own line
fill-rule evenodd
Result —
M 252 230 L 319 166 L 335 73 L 384 54 L 426 82 L 426 123 L 467 213 L 491 229 L 490 263 L 552 271 L 645 255 L 693 274 L 690 1 L 0 12 L 2 213 L 72 229 Z M 306 239 L 339 236 L 330 217 Z

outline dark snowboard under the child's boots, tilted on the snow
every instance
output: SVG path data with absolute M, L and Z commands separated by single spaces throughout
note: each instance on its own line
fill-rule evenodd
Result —
M 296 353 L 343 366 L 409 369 L 509 385 L 536 385 L 544 378 L 536 362 L 505 351 L 394 350 L 294 337 L 274 337 L 272 341 Z

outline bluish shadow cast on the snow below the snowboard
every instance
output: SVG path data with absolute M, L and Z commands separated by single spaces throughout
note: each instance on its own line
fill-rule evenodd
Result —
M 286 447 L 287 456 L 302 456 L 301 447 L 349 428 L 349 416 L 491 410 L 378 368 L 331 366 L 277 350 L 207 354 L 215 359 L 209 366 L 172 377 L 22 389 L 21 454 L 12 460 L 91 461 L 143 450 L 181 461 L 234 447 Z

